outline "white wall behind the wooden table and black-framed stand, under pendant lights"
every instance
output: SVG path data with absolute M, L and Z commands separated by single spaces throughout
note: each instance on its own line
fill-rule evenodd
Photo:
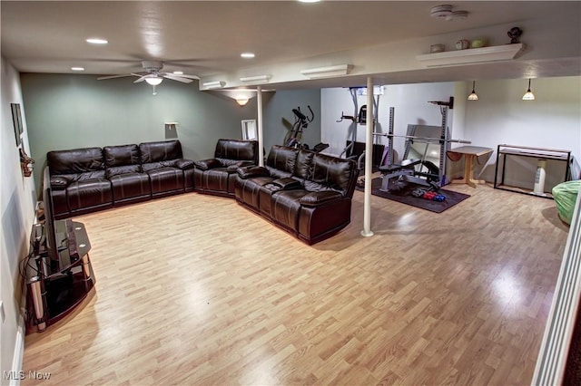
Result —
M 523 101 L 527 80 L 477 81 L 478 101 L 466 102 L 466 139 L 474 145 L 495 150 L 482 175 L 488 181 L 494 180 L 498 144 L 571 150 L 576 159 L 573 170 L 578 179 L 581 77 L 533 79 L 531 89 L 536 100 Z M 459 95 L 457 99 L 461 97 Z M 512 176 L 516 179 L 513 182 L 526 188 L 536 171 L 537 159 L 521 159 L 517 163 L 522 168 L 516 169 L 516 173 L 522 177 Z M 547 169 L 547 184 L 559 179 L 561 173 L 558 169 L 563 168 L 563 164 L 558 163 L 550 166 L 553 170 Z

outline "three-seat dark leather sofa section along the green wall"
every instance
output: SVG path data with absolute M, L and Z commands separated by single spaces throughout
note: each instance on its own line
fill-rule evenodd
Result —
M 54 217 L 62 219 L 193 190 L 193 161 L 179 140 L 55 150 L 46 154 Z

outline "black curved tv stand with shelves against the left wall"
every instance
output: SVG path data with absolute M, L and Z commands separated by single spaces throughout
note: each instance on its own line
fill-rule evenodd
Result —
M 84 224 L 71 220 L 55 221 L 56 231 L 69 235 L 65 248 L 59 248 L 59 262 L 54 264 L 38 238 L 41 224 L 34 224 L 31 235 L 34 261 L 26 266 L 28 287 L 27 332 L 43 332 L 81 304 L 93 289 L 95 279 L 89 259 L 91 244 Z

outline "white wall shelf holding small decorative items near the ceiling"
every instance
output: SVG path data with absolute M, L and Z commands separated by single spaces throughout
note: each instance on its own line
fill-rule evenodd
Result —
M 516 58 L 517 54 L 521 53 L 524 49 L 524 43 L 514 43 L 444 53 L 425 53 L 416 56 L 416 59 L 428 67 L 499 62 Z

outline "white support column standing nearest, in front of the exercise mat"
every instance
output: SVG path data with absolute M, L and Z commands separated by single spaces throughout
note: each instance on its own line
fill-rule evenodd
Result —
M 373 154 L 373 78 L 367 78 L 367 117 L 365 130 L 365 192 L 363 196 L 363 230 L 361 236 L 373 236 L 371 231 L 371 167 Z

